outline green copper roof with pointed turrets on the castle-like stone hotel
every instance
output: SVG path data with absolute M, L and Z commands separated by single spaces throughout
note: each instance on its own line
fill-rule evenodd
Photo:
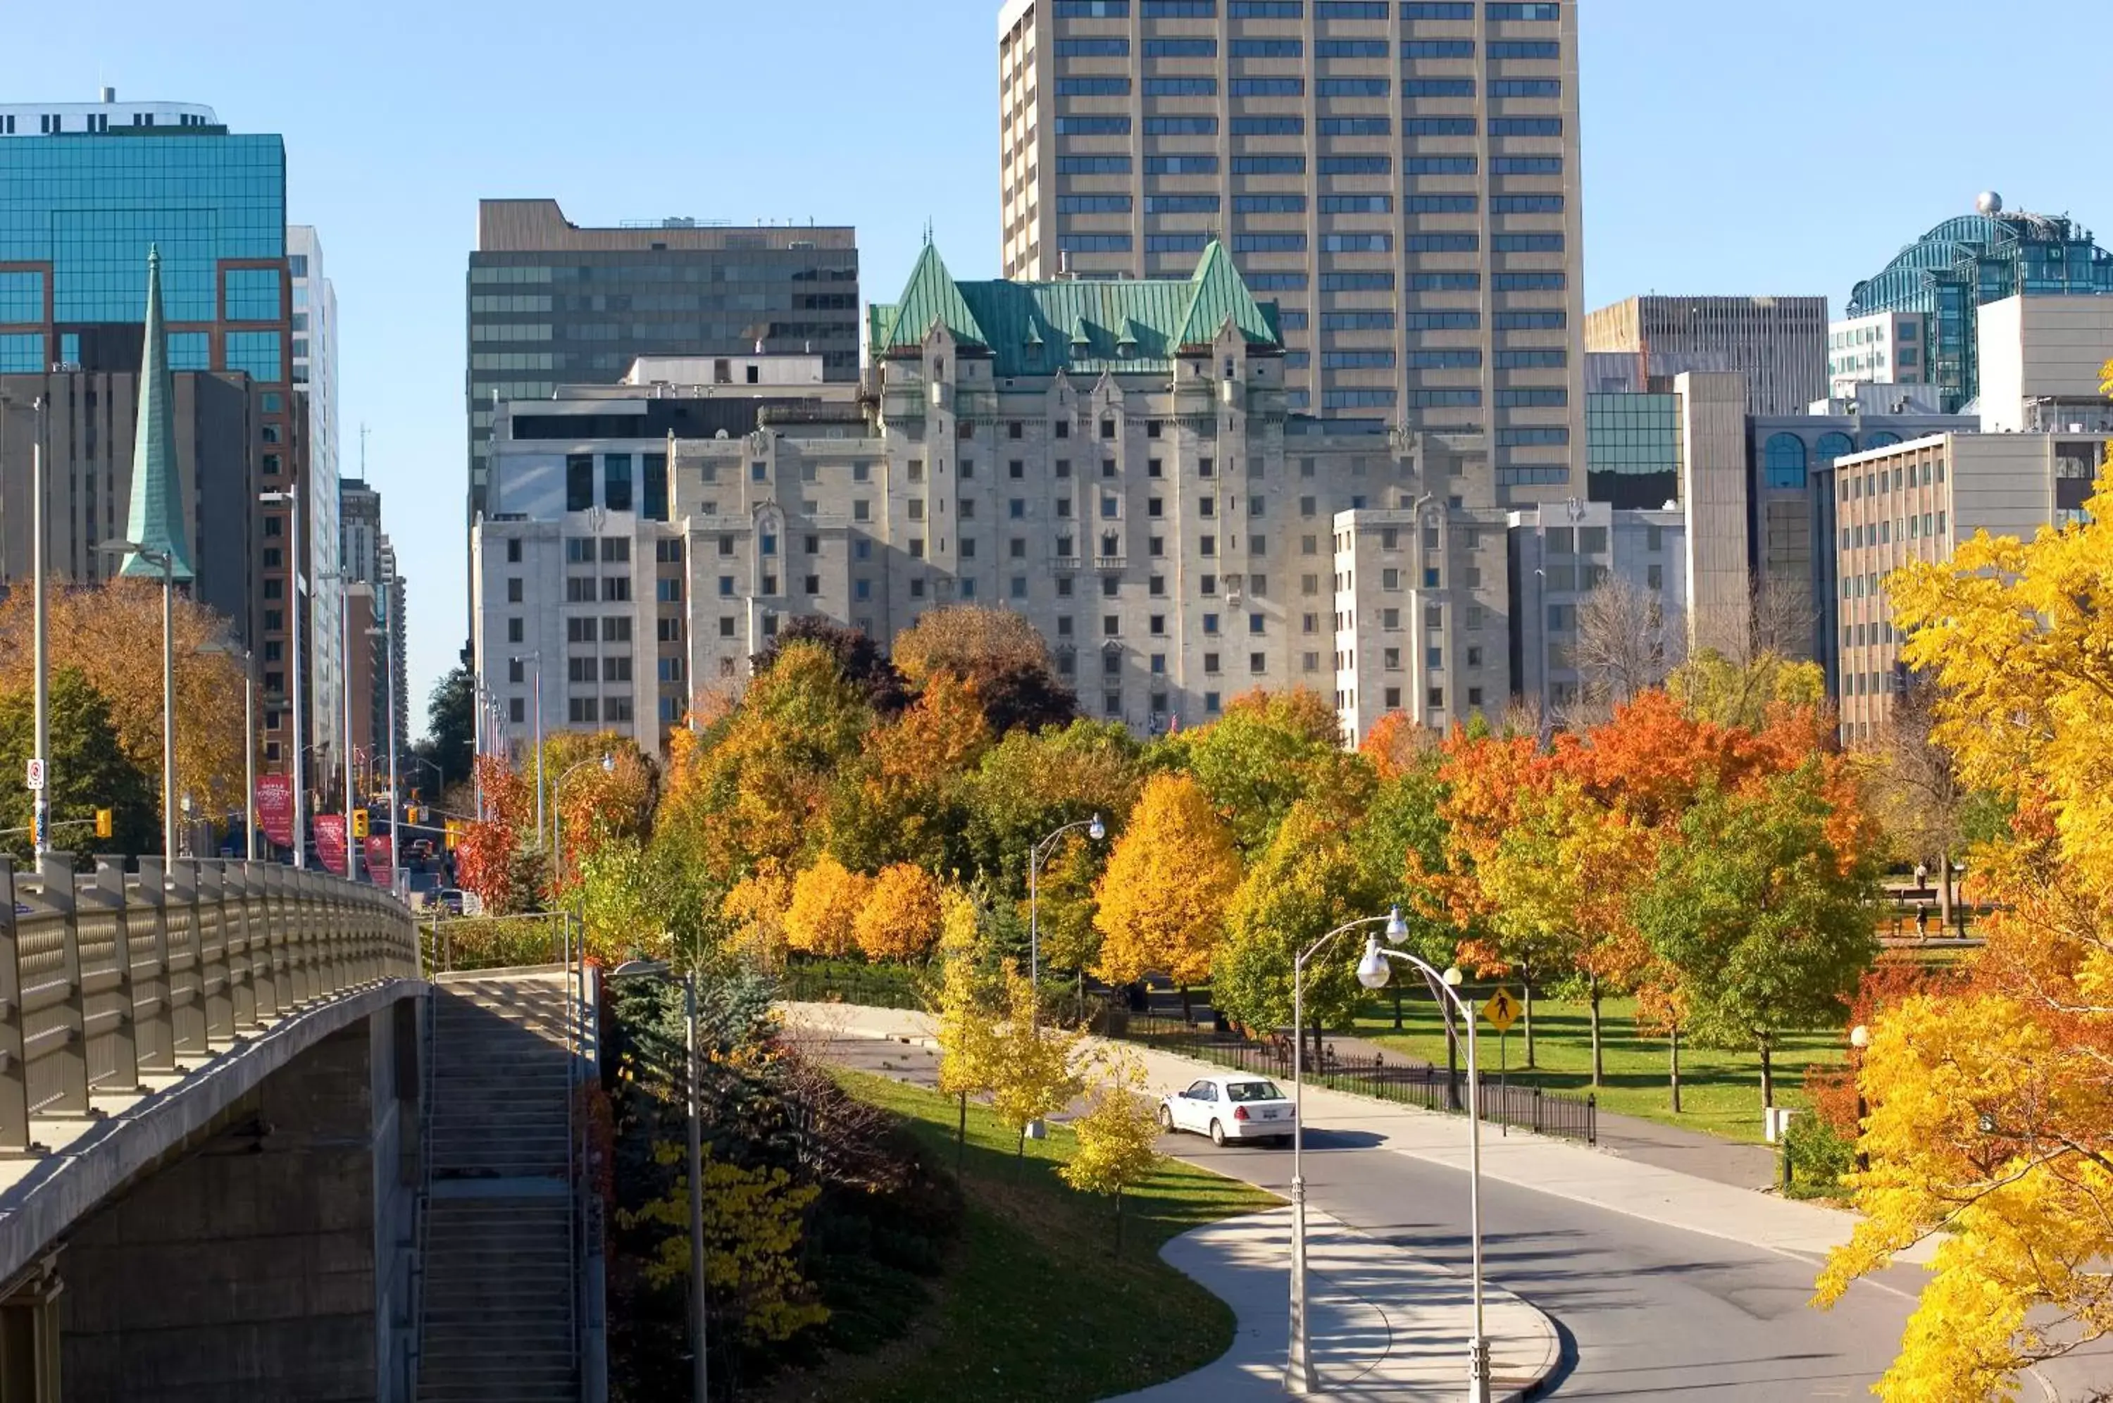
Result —
M 1213 241 L 1188 279 L 1063 279 L 955 283 L 925 245 L 894 306 L 873 306 L 873 355 L 917 347 L 934 321 L 991 353 L 999 376 L 1162 374 L 1183 347 L 1217 340 L 1226 321 L 1251 347 L 1283 349 L 1274 302 L 1255 302 Z

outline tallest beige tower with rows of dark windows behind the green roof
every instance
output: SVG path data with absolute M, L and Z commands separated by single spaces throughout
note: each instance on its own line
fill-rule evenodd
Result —
M 1010 0 L 997 68 L 1008 277 L 1219 239 L 1291 412 L 1471 444 L 1496 501 L 1581 488 L 1574 0 Z

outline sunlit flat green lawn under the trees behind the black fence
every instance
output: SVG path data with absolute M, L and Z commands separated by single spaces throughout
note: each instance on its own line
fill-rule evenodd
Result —
M 1462 991 L 1469 1002 L 1481 1006 L 1492 987 Z M 1511 985 L 1517 995 L 1517 985 Z M 1445 1065 L 1445 1025 L 1437 1008 L 1422 989 L 1405 991 L 1401 999 L 1403 1031 L 1395 1031 L 1390 999 L 1373 1002 L 1357 1023 L 1359 1037 L 1369 1037 L 1388 1048 L 1399 1048 L 1409 1056 Z M 1591 1090 L 1591 1018 L 1583 1004 L 1559 1004 L 1555 999 L 1534 999 L 1534 1063 L 1526 1069 L 1526 1029 L 1511 1027 L 1504 1052 L 1511 1063 L 1511 1080 L 1549 1090 Z M 1483 1021 L 1477 1031 L 1477 1050 L 1483 1067 L 1498 1067 L 1496 1029 Z M 1756 1052 L 1718 1052 L 1680 1044 L 1680 1107 L 1671 1111 L 1667 1090 L 1667 1042 L 1665 1037 L 1644 1037 L 1635 1031 L 1635 1004 L 1631 999 L 1604 999 L 1600 1006 L 1600 1042 L 1606 1065 L 1606 1082 L 1600 1088 L 1600 1105 L 1621 1116 L 1642 1116 L 1663 1120 L 1669 1126 L 1707 1130 L 1735 1141 L 1760 1143 L 1760 1056 Z M 1775 1101 L 1777 1105 L 1805 1105 L 1805 1067 L 1811 1063 L 1838 1063 L 1847 1052 L 1838 1029 L 1815 1033 L 1785 1033 L 1775 1050 Z M 1464 1054 L 1462 1054 L 1464 1063 Z

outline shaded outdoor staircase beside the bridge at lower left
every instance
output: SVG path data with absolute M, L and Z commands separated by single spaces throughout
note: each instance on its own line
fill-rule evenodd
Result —
M 433 987 L 420 1403 L 577 1403 L 566 978 Z

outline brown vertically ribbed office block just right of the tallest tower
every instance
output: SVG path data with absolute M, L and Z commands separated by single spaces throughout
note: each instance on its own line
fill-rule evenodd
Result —
M 1585 351 L 1659 376 L 1745 376 L 1752 414 L 1802 414 L 1828 397 L 1826 298 L 1629 298 L 1585 319 Z

